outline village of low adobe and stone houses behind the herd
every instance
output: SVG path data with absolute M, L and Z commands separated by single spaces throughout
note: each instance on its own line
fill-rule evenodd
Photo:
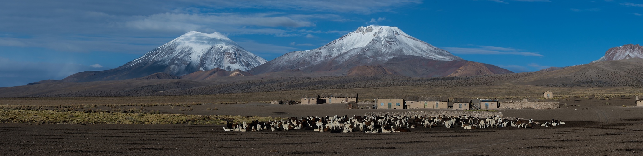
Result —
M 440 108 L 453 110 L 480 110 L 480 109 L 552 109 L 559 108 L 561 103 L 553 101 L 554 93 L 547 91 L 542 98 L 523 98 L 522 100 L 507 99 L 480 99 L 480 98 L 449 98 L 445 96 L 402 96 L 398 98 L 377 98 L 375 100 L 359 100 L 358 93 L 323 93 L 306 94 L 301 102 L 293 100 L 273 100 L 273 104 L 287 105 L 318 105 L 325 103 L 346 103 L 349 109 L 368 108 L 374 109 L 421 109 Z M 637 106 L 643 106 L 642 100 L 636 100 Z

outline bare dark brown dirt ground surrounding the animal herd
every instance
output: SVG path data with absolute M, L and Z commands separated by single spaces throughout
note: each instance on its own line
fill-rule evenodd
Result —
M 576 107 L 498 110 L 504 116 L 561 119 L 555 127 L 410 128 L 412 132 L 331 134 L 310 130 L 225 132 L 222 125 L 0 124 L 1 155 L 639 155 L 643 107 L 633 98 L 560 101 Z M 606 102 L 610 105 L 605 104 Z M 206 110 L 217 107 L 219 110 Z M 342 104 L 197 105 L 162 112 L 235 116 L 334 116 L 410 110 L 346 110 Z M 430 109 L 422 109 L 430 110 Z M 438 109 L 436 109 L 438 110 Z M 444 110 L 444 109 L 440 109 Z

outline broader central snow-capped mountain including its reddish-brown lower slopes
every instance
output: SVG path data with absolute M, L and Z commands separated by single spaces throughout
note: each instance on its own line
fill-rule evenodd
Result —
M 437 77 L 513 73 L 495 65 L 469 62 L 415 39 L 397 27 L 366 26 L 320 48 L 286 53 L 251 69 L 249 73 L 262 74 L 289 69 L 325 72 L 329 76 L 394 73 L 412 77 Z M 464 65 L 468 66 L 462 68 Z M 366 69 L 368 72 L 356 73 L 354 68 Z M 454 74 L 456 71 L 461 74 Z

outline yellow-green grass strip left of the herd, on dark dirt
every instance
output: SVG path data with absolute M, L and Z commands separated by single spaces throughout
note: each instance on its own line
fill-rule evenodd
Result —
M 3 110 L 0 123 L 85 123 L 136 125 L 221 125 L 230 122 L 251 122 L 282 119 L 279 117 L 195 116 L 185 114 L 149 114 L 121 112 L 59 112 L 57 110 Z

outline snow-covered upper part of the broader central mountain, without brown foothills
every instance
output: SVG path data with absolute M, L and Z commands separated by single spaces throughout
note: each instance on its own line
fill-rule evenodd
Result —
M 384 64 L 395 57 L 462 60 L 444 49 L 407 35 L 397 27 L 361 26 L 320 48 L 286 53 L 253 69 L 253 72 L 265 73 L 284 69 L 336 70 L 354 65 Z

